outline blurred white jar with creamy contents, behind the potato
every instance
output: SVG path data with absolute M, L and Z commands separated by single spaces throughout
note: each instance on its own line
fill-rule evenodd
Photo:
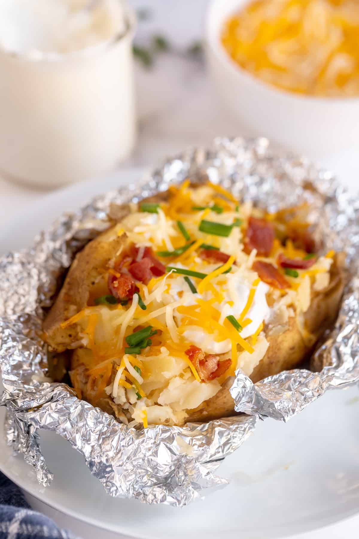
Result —
M 2 0 L 5 176 L 55 187 L 100 177 L 129 155 L 134 27 L 121 0 Z

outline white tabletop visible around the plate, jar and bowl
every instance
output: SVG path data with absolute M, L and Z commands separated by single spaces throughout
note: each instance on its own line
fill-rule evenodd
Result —
M 133 155 L 123 166 L 152 165 L 187 146 L 209 143 L 217 135 L 251 135 L 222 110 L 205 66 L 180 53 L 195 39 L 201 38 L 207 1 L 132 0 L 131 3 L 136 8 L 148 5 L 153 10 L 153 18 L 139 24 L 138 42 L 145 43 L 148 36 L 158 32 L 170 39 L 175 52 L 161 54 L 149 71 L 136 66 L 139 137 Z M 321 163 L 334 170 L 343 183 L 356 187 L 359 156 L 355 150 L 327 156 Z M 14 213 L 43 195 L 44 192 L 0 178 L 0 223 L 6 226 Z M 96 532 L 91 535 L 81 523 L 66 521 L 62 516 L 57 520 L 62 526 L 72 526 L 79 535 L 98 537 Z M 356 537 L 358 525 L 359 516 L 300 537 Z

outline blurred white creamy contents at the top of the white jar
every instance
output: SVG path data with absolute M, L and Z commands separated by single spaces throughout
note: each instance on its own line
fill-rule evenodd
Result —
M 0 45 L 17 53 L 69 53 L 122 33 L 118 0 L 1 0 Z

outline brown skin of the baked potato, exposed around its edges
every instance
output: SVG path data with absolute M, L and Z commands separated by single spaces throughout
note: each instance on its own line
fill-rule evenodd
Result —
M 168 193 L 161 193 L 151 197 L 150 202 L 165 201 Z M 110 216 L 114 220 L 121 220 L 129 213 L 128 206 L 113 206 Z M 96 281 L 109 261 L 120 252 L 126 243 L 125 234 L 113 238 L 113 226 L 107 231 L 90 241 L 76 258 L 68 271 L 64 285 L 55 301 L 50 313 L 43 324 L 45 340 L 54 351 L 64 351 L 71 343 L 77 340 L 78 329 L 76 324 L 62 329 L 60 324 L 86 307 L 91 295 L 91 290 L 96 286 Z M 300 331 L 297 319 L 291 317 L 288 321 L 288 329 L 279 335 L 266 335 L 269 348 L 252 372 L 250 378 L 256 383 L 263 378 L 278 374 L 283 370 L 297 367 L 312 351 L 313 345 L 322 336 L 324 331 L 333 324 L 336 319 L 340 300 L 344 287 L 343 256 L 336 255 L 330 271 L 330 282 L 326 289 L 313 293 L 311 306 L 304 316 L 305 327 L 311 334 L 305 338 Z M 82 351 L 74 351 L 72 369 L 76 369 L 81 363 Z M 84 362 L 85 363 L 85 362 Z M 104 411 L 112 413 L 115 417 L 123 417 L 119 407 L 105 396 L 105 393 L 96 403 L 93 396 L 86 393 L 86 377 L 81 384 L 82 396 L 94 405 L 100 406 Z M 221 390 L 212 398 L 201 403 L 194 410 L 186 410 L 186 421 L 203 422 L 221 417 L 229 417 L 235 414 L 234 401 L 229 388 L 233 383 L 233 377 L 227 378 Z

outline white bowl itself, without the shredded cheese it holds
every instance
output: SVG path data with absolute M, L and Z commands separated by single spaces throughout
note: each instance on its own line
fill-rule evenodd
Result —
M 284 92 L 238 66 L 221 44 L 224 21 L 248 0 L 212 0 L 206 18 L 210 75 L 224 104 L 254 134 L 308 156 L 359 146 L 359 98 L 316 98 Z

